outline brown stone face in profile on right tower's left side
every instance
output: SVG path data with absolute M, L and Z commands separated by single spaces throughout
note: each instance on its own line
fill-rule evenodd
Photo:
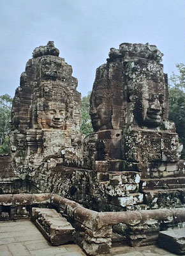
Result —
M 112 129 L 111 98 L 103 95 L 103 90 L 94 90 L 91 93 L 90 111 L 94 131 Z

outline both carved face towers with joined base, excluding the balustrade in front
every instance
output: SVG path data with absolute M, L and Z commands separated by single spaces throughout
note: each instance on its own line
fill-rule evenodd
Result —
M 110 49 L 96 70 L 94 132 L 84 140 L 71 66 L 52 42 L 38 47 L 13 100 L 15 175 L 31 180 L 34 193 L 57 193 L 98 211 L 184 205 L 182 145 L 168 120 L 162 56 L 149 44 Z

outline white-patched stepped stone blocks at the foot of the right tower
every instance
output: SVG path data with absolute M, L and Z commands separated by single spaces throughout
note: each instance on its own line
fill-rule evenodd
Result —
M 164 170 L 142 173 L 139 172 L 137 163 L 114 159 L 96 161 L 94 170 L 98 173 L 96 179 L 99 181 L 98 187 L 94 188 L 94 194 L 99 189 L 98 195 L 102 194 L 103 204 L 105 196 L 108 196 L 107 203 L 114 205 L 110 211 L 174 208 L 185 205 L 184 161 L 180 161 L 179 166 L 177 163 L 170 163 Z

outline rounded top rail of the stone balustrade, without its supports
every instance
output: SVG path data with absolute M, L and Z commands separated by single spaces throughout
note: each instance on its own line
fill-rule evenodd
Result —
M 125 223 L 127 225 L 137 225 L 138 223 L 148 223 L 150 220 L 155 222 L 179 223 L 185 221 L 185 208 L 176 209 L 154 209 L 129 212 L 96 212 L 86 209 L 77 202 L 71 201 L 63 196 L 45 193 L 45 194 L 8 194 L 0 195 L 0 205 L 34 205 L 34 204 L 52 204 L 60 209 L 70 218 L 80 223 L 91 225 L 91 228 L 100 228 L 116 223 Z M 131 219 L 137 221 L 132 222 Z M 129 222 L 128 222 L 129 218 Z M 131 221 L 131 222 L 130 222 Z M 89 223 L 89 224 L 88 224 Z

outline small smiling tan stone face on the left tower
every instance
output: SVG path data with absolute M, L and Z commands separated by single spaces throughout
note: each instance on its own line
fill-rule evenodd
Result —
M 64 129 L 65 125 L 65 109 L 63 104 L 50 102 L 48 110 L 45 111 L 45 124 L 47 128 Z

